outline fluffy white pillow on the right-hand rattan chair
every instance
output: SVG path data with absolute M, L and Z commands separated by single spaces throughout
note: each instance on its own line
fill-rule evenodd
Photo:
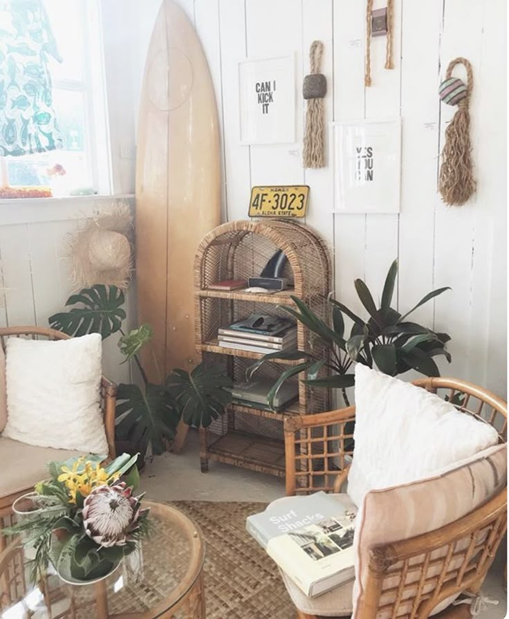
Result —
M 497 431 L 421 387 L 357 364 L 348 493 L 423 479 L 497 445 Z

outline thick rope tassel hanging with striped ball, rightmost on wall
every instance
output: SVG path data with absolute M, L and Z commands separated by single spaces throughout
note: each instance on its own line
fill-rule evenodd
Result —
M 452 77 L 452 71 L 463 64 L 467 71 L 467 83 Z M 470 95 L 474 86 L 472 65 L 465 58 L 455 58 L 449 63 L 445 80 L 438 89 L 441 100 L 457 105 L 458 111 L 445 129 L 445 145 L 438 177 L 438 190 L 443 201 L 450 206 L 461 206 L 474 194 L 476 182 L 470 143 Z

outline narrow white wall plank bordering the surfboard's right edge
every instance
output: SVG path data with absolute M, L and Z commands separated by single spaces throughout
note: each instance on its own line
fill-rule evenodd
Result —
M 223 88 L 221 80 L 221 41 L 219 25 L 219 0 L 196 0 L 194 3 L 195 28 L 200 37 L 210 68 L 216 94 L 217 116 L 221 150 L 221 221 L 228 220 L 225 198 L 225 163 L 223 145 Z

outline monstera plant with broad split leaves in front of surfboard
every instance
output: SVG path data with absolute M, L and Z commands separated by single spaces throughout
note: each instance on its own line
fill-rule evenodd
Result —
M 112 333 L 122 335 L 118 346 L 123 362 L 132 359 L 136 363 L 142 385 L 118 386 L 115 437 L 142 454 L 148 445 L 152 453 L 160 454 L 174 438 L 179 421 L 207 427 L 225 412 L 232 398 L 228 390 L 232 381 L 218 368 L 201 363 L 191 372 L 174 369 L 160 384 L 149 382 L 138 353 L 150 345 L 154 332 L 149 324 L 142 324 L 124 333 L 123 304 L 122 290 L 95 284 L 71 295 L 66 302 L 71 309 L 51 316 L 49 323 L 68 335 L 100 333 L 103 340 Z

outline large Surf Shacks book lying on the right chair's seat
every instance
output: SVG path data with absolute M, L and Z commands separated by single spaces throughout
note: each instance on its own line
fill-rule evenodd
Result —
M 353 578 L 357 508 L 348 495 L 316 492 L 270 503 L 246 528 L 270 557 L 313 598 Z

